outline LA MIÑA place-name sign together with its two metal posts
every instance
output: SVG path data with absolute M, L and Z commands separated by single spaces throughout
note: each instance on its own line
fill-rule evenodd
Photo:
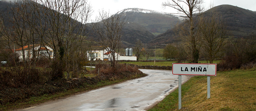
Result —
M 210 98 L 210 76 L 216 76 L 217 64 L 187 64 L 173 63 L 174 75 L 179 75 L 178 85 L 178 109 L 181 109 L 181 75 L 205 75 L 207 76 L 207 99 Z

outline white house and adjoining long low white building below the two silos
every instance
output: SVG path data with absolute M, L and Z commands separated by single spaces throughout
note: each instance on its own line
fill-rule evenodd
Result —
M 106 51 L 102 46 L 93 46 L 91 51 L 88 51 L 87 57 L 89 60 L 111 60 L 111 52 Z M 121 56 L 115 52 L 115 60 L 133 60 L 136 61 L 136 56 Z

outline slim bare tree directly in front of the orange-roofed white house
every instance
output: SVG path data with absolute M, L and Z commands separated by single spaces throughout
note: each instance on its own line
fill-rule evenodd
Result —
M 32 49 L 31 51 L 28 51 L 28 57 L 29 55 L 32 55 L 32 57 L 30 57 L 28 61 L 29 65 L 32 64 L 33 67 L 35 67 L 36 62 L 40 57 L 39 53 L 43 44 L 43 37 L 45 36 L 46 23 L 43 19 L 46 18 L 46 15 L 42 13 L 42 10 L 45 9 L 42 8 L 39 0 L 22 1 L 22 6 L 26 9 L 26 15 L 24 15 L 23 19 L 26 21 L 27 24 L 26 35 L 29 40 L 27 46 L 29 49 Z M 39 48 L 35 49 L 36 46 L 39 46 Z

